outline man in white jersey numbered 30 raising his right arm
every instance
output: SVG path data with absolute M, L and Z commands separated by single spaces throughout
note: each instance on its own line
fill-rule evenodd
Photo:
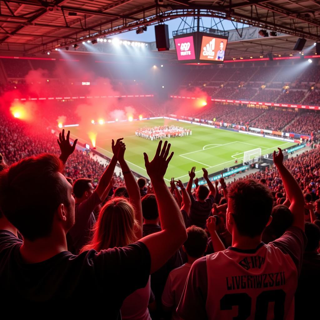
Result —
M 291 203 L 292 226 L 275 241 L 261 242 L 272 219 L 271 193 L 255 180 L 233 182 L 226 216 L 232 247 L 194 262 L 177 308 L 182 319 L 294 319 L 294 293 L 306 245 L 304 199 L 278 149 L 274 163 Z

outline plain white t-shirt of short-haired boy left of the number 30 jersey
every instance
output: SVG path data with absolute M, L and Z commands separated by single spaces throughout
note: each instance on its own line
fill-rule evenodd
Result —
M 179 268 L 173 269 L 168 276 L 167 282 L 162 293 L 162 304 L 165 307 L 172 308 L 172 320 L 180 320 L 176 308 L 180 302 L 183 289 L 186 285 L 187 277 L 191 268 L 190 263 L 185 263 Z

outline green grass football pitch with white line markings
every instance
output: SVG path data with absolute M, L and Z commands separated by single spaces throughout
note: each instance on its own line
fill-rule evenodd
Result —
M 159 125 L 179 125 L 192 130 L 192 136 L 170 138 L 171 150 L 174 156 L 169 164 L 165 179 L 171 177 L 188 181 L 188 171 L 196 166 L 198 177 L 202 176 L 201 168 L 209 174 L 234 165 L 235 159 L 242 163 L 244 151 L 261 148 L 261 154 L 267 154 L 277 147 L 288 148 L 294 143 L 272 140 L 262 137 L 246 135 L 228 130 L 209 128 L 195 124 L 188 124 L 167 119 L 142 120 L 133 122 L 118 122 L 104 125 L 92 125 L 90 130 L 97 133 L 97 151 L 106 156 L 112 156 L 111 139 L 124 137 L 126 144 L 125 159 L 133 171 L 147 176 L 144 166 L 143 152 L 147 152 L 151 160 L 156 151 L 158 141 L 151 141 L 135 136 L 135 130 L 140 127 L 155 127 Z M 80 142 L 91 145 L 88 132 L 81 126 L 70 128 L 71 136 Z

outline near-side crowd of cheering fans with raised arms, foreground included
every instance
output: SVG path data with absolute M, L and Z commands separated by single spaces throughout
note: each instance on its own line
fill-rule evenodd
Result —
M 174 154 L 160 141 L 152 160 L 144 153 L 147 187 L 125 160 L 123 138 L 112 140 L 108 166 L 94 167 L 69 133 L 56 142 L 27 134 L 19 120 L 0 121 L 1 299 L 20 292 L 16 313 L 68 303 L 80 315 L 89 303 L 109 319 L 228 319 L 245 288 L 244 301 L 257 300 L 248 316 L 316 312 L 306 282 L 319 282 L 320 148 L 285 162 L 279 149 L 272 168 L 228 185 L 192 167 L 186 187 L 174 178 L 168 187 Z

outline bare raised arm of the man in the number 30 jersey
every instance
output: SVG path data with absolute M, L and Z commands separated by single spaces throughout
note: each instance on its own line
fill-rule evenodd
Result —
M 283 154 L 280 148 L 278 155 L 273 152 L 273 161 L 279 171 L 283 181 L 285 192 L 290 200 L 290 211 L 293 214 L 292 226 L 299 227 L 304 230 L 304 198 L 298 182 L 293 178 L 292 174 L 283 164 Z

